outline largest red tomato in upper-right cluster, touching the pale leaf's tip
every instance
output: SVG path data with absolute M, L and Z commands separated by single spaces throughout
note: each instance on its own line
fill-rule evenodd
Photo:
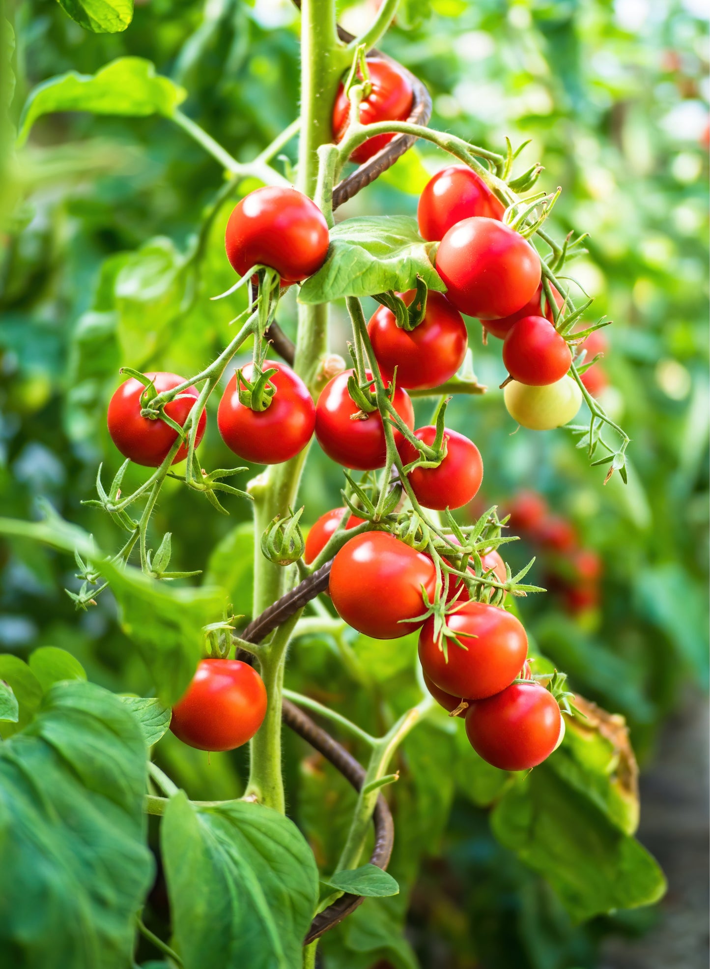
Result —
M 479 216 L 448 230 L 436 267 L 448 300 L 479 320 L 517 312 L 540 285 L 540 256 L 532 245 L 502 222 Z

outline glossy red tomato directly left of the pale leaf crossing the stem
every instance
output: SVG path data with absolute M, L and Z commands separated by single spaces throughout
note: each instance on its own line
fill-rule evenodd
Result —
M 271 266 L 283 285 L 299 283 L 323 266 L 329 235 L 323 212 L 294 188 L 267 185 L 232 209 L 227 258 L 240 276 L 252 266 Z

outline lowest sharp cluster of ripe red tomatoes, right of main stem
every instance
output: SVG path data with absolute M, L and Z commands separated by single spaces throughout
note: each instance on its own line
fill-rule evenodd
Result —
M 308 534 L 312 562 L 346 516 L 335 508 Z M 361 519 L 351 515 L 346 529 Z M 481 574 L 506 581 L 495 550 L 481 556 Z M 473 571 L 473 570 L 470 570 Z M 449 712 L 466 718 L 472 746 L 489 764 L 523 770 L 540 764 L 559 745 L 564 721 L 552 694 L 530 677 L 528 640 L 507 610 L 470 599 L 463 582 L 449 585 L 445 629 L 434 615 L 436 569 L 431 557 L 386 532 L 356 535 L 335 555 L 328 591 L 349 625 L 375 639 L 396 639 L 419 629 L 424 682 Z

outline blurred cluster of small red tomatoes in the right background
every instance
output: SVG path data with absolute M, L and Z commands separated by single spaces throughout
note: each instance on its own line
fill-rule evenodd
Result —
M 561 594 L 567 609 L 576 615 L 599 606 L 602 558 L 580 545 L 571 521 L 551 513 L 536 491 L 518 492 L 509 511 L 510 527 L 547 554 L 545 584 Z

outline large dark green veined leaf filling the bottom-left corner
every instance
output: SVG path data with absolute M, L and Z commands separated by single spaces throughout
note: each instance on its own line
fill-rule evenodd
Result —
M 0 744 L 4 964 L 125 969 L 153 876 L 145 746 L 112 694 L 57 683 Z

